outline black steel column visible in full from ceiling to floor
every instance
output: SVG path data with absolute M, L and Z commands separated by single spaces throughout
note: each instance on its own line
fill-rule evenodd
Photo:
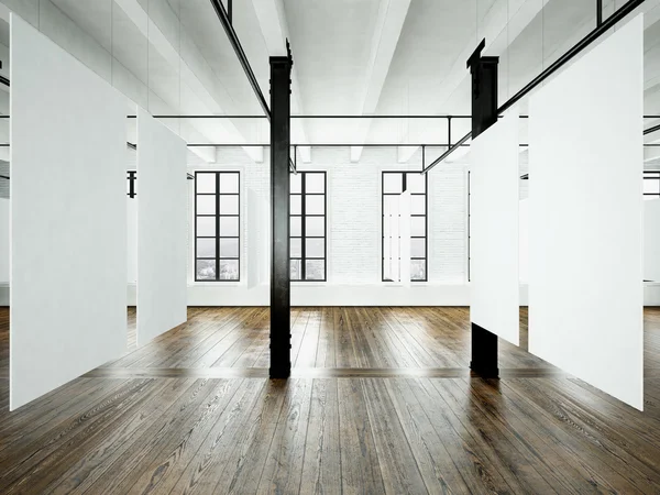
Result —
M 292 371 L 289 282 L 290 73 L 293 61 L 271 57 L 271 378 Z

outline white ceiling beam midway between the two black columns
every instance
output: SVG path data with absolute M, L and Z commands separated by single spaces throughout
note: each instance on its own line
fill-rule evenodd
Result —
M 376 111 L 409 8 L 410 0 L 384 0 L 378 7 L 366 77 L 360 99 L 360 113 L 363 116 L 373 114 Z M 366 141 L 370 128 L 371 119 L 360 121 L 355 130 L 356 143 Z M 360 161 L 362 150 L 363 146 L 351 146 L 351 162 Z

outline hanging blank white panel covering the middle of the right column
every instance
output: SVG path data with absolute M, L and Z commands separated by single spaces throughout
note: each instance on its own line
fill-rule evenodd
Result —
M 519 343 L 518 113 L 470 145 L 470 318 L 513 344 Z

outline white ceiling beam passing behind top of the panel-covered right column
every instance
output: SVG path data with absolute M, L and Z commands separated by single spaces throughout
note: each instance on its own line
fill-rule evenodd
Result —
M 501 55 L 508 46 L 518 37 L 522 30 L 537 16 L 537 14 L 546 7 L 549 0 L 503 0 L 496 1 L 484 19 L 484 26 L 480 29 L 480 38 L 486 40 L 485 51 L 491 54 Z M 508 36 L 499 34 L 508 26 Z M 481 41 L 481 40 L 479 40 Z M 507 44 L 508 42 L 508 44 Z M 470 72 L 465 68 L 465 62 L 476 47 L 475 41 L 471 40 L 464 47 L 461 54 L 457 57 L 449 75 L 438 88 L 440 100 L 447 100 L 454 91 L 463 84 L 466 77 L 470 77 Z M 441 108 L 438 109 L 440 113 Z M 421 141 L 432 141 L 437 139 L 432 133 L 422 133 Z M 458 141 L 459 138 L 455 138 Z M 399 150 L 399 162 L 406 163 L 417 152 L 415 146 L 403 146 Z M 458 152 L 458 151 L 457 151 Z

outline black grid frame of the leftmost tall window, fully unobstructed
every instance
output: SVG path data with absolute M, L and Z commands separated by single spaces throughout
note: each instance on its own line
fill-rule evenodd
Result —
M 216 193 L 198 193 L 197 191 L 197 185 L 198 185 L 198 177 L 200 175 L 215 175 L 215 179 L 216 179 Z M 221 193 L 220 191 L 220 184 L 221 184 L 221 176 L 222 175 L 235 175 L 238 177 L 238 193 Z M 198 213 L 197 212 L 197 198 L 199 196 L 215 196 L 216 197 L 216 213 L 213 215 L 207 215 L 207 213 Z M 222 196 L 237 196 L 239 199 L 239 212 L 237 215 L 226 215 L 222 213 L 220 210 L 220 198 Z M 213 218 L 216 219 L 216 235 L 211 237 L 211 235 L 198 235 L 197 234 L 197 219 L 198 218 Z M 220 232 L 220 219 L 222 218 L 238 218 L 239 219 L 239 234 L 238 237 L 235 235 L 222 235 Z M 194 245 L 194 253 L 193 253 L 193 260 L 194 260 L 194 270 L 195 270 L 195 282 L 209 282 L 209 283 L 216 283 L 216 282 L 230 282 L 230 283 L 237 283 L 237 282 L 241 282 L 241 240 L 242 240 L 242 235 L 241 235 L 241 173 L 239 170 L 196 170 L 195 172 L 195 245 Z M 215 257 L 199 257 L 197 255 L 197 241 L 198 239 L 215 239 L 216 240 L 216 256 Z M 227 256 L 220 256 L 220 242 L 222 239 L 238 239 L 239 242 L 239 252 L 238 252 L 238 256 L 237 257 L 227 257 Z M 216 278 L 199 278 L 197 275 L 197 262 L 198 261 L 205 261 L 205 260 L 212 260 L 216 262 Z M 238 278 L 220 278 L 220 262 L 221 261 L 238 261 Z

